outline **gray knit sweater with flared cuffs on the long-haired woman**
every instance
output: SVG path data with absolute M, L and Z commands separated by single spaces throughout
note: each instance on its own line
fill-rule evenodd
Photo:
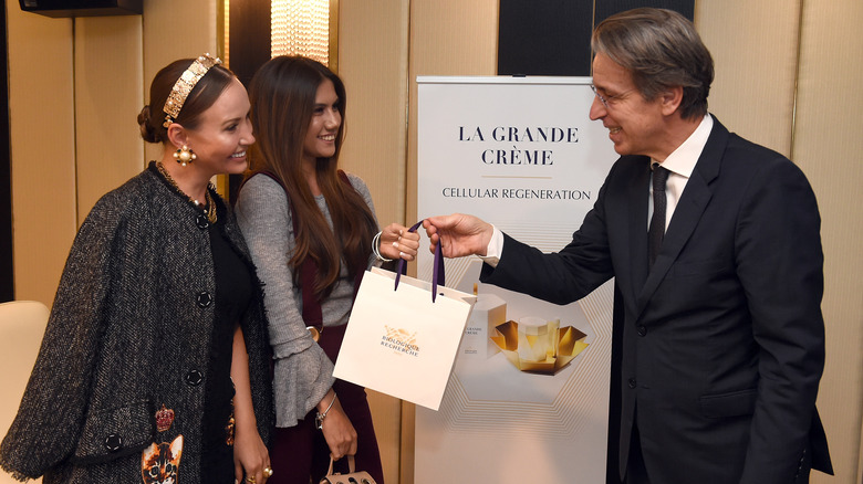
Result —
M 354 175 L 349 175 L 349 179 L 374 213 L 368 187 Z M 316 201 L 332 227 L 326 200 L 321 196 Z M 294 286 L 288 265 L 294 250 L 291 209 L 282 187 L 270 177 L 258 175 L 243 185 L 235 210 L 258 275 L 267 288 L 264 304 L 275 358 L 275 424 L 293 427 L 323 399 L 334 378 L 332 362 L 305 329 L 302 293 Z M 370 266 L 373 261 L 370 260 Z M 342 264 L 339 283 L 321 304 L 324 327 L 347 323 L 353 295 L 354 282 Z

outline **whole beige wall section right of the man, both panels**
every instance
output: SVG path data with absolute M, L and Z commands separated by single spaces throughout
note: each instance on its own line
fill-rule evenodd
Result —
M 818 406 L 835 477 L 861 483 L 863 419 L 863 3 L 699 0 L 696 25 L 716 62 L 710 111 L 741 136 L 791 158 L 821 210 L 826 366 Z

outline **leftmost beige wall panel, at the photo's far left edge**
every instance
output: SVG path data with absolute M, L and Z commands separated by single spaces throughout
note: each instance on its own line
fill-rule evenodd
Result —
M 15 298 L 50 306 L 77 230 L 72 21 L 6 9 Z

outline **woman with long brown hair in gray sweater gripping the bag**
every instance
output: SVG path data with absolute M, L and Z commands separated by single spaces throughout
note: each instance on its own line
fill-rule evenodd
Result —
M 250 97 L 258 144 L 236 210 L 266 285 L 275 358 L 271 483 L 316 483 L 343 455 L 383 483 L 365 390 L 334 379 L 333 362 L 365 270 L 413 260 L 419 235 L 395 223 L 378 232 L 368 188 L 339 169 L 339 76 L 305 57 L 275 57 L 256 73 Z

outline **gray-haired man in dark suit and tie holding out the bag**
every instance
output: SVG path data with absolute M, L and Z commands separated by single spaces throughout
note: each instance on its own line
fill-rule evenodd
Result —
M 481 281 L 557 304 L 615 277 L 610 462 L 626 483 L 832 473 L 815 410 L 823 255 L 809 182 L 707 113 L 713 60 L 684 17 L 623 12 L 591 45 L 591 119 L 621 158 L 572 242 L 543 254 L 454 214 L 426 221 L 433 245 L 484 256 Z

